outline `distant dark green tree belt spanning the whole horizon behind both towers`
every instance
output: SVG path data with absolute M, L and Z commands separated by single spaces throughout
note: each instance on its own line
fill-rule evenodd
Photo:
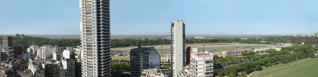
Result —
M 23 38 L 14 37 L 14 45 L 23 45 L 24 49 L 35 43 L 37 45 L 52 45 L 52 46 L 79 46 L 80 39 L 49 39 L 41 37 L 30 37 L 24 36 Z M 0 38 L 0 44 L 2 44 L 2 38 Z M 301 40 L 301 41 L 300 41 Z M 249 39 L 240 39 L 240 38 L 213 38 L 213 39 L 196 39 L 196 38 L 186 38 L 186 44 L 192 43 L 248 43 L 248 44 L 260 44 L 260 41 L 271 41 L 264 42 L 261 44 L 275 44 L 275 43 L 286 43 L 290 41 L 294 44 L 301 44 L 304 42 L 306 44 L 318 44 L 317 37 L 292 37 L 292 36 L 281 36 L 281 37 L 262 37 L 262 38 L 249 38 Z M 137 46 L 138 43 L 142 45 L 160 45 L 160 44 L 170 44 L 170 39 L 112 39 L 112 47 L 127 47 L 127 46 Z M 297 49 L 295 49 L 298 51 Z M 295 51 L 294 50 L 294 51 Z

